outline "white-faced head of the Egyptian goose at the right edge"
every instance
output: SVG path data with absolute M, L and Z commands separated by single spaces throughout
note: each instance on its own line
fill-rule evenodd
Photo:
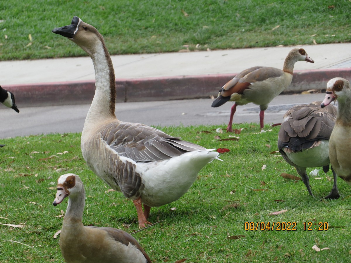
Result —
M 335 77 L 334 79 L 328 81 L 325 98 L 320 106 L 324 108 L 334 100 L 341 102 L 350 96 L 350 82 L 343 79 L 342 77 Z

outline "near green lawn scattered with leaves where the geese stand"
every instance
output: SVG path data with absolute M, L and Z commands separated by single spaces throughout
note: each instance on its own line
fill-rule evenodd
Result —
M 280 176 L 297 173 L 274 152 L 279 126 L 266 133 L 258 133 L 257 125 L 234 126 L 244 128 L 238 141 L 219 141 L 215 136 L 232 137 L 216 133 L 217 126 L 162 128 L 206 148 L 230 151 L 221 154 L 223 162 L 215 160 L 203 168 L 178 201 L 151 208 L 149 220 L 162 222 L 133 236 L 153 262 L 350 262 L 350 187 L 338 178 L 342 197 L 320 201 L 332 188 L 331 171 L 325 175 L 321 170 L 319 179 L 310 177 L 317 198 L 309 196 L 302 181 Z M 6 146 L 0 148 L 0 223 L 24 227 L 0 225 L 0 262 L 63 262 L 59 236 L 53 236 L 61 228 L 62 217 L 57 216 L 66 210 L 67 200 L 57 207 L 52 202 L 57 178 L 65 173 L 80 175 L 85 184 L 85 225 L 138 230 L 133 203 L 107 191 L 86 166 L 80 134 L 16 137 L 1 143 Z M 245 222 L 254 222 L 254 228 L 259 222 L 258 230 Z M 291 222 L 292 227 L 296 222 L 296 231 L 260 230 L 268 222 Z M 303 222 L 327 222 L 329 229 L 304 230 Z M 314 245 L 329 249 L 317 252 Z

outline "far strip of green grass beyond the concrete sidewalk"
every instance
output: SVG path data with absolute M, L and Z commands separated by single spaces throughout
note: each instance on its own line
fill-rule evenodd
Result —
M 100 31 L 111 54 L 349 42 L 350 7 L 349 0 L 0 1 L 0 60 L 85 56 L 51 33 L 74 15 Z

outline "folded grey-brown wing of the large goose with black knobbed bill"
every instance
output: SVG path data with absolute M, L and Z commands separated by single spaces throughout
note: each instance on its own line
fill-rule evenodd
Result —
M 180 140 L 140 123 L 112 122 L 101 129 L 101 138 L 120 156 L 137 162 L 162 161 L 204 147 Z

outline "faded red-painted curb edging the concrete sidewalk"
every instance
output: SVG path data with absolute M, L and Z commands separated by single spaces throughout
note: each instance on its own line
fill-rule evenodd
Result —
M 236 74 L 151 77 L 145 79 L 117 79 L 116 102 L 158 101 L 208 98 Z M 351 80 L 351 68 L 296 70 L 285 93 L 300 93 L 309 89 L 325 89 L 333 77 Z M 8 85 L 3 88 L 15 94 L 21 107 L 90 104 L 95 81 L 34 83 Z

